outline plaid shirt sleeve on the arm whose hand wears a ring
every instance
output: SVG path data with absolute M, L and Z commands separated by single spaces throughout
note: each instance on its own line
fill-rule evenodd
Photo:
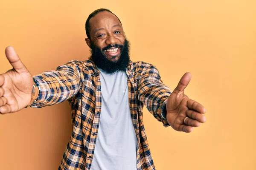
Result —
M 168 127 L 166 102 L 171 90 L 163 84 L 159 71 L 154 65 L 146 64 L 138 82 L 138 98 L 154 117 Z

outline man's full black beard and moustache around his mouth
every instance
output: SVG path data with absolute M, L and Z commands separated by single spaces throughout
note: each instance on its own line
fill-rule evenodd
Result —
M 92 44 L 90 49 L 91 56 L 89 57 L 89 59 L 92 60 L 98 68 L 102 69 L 108 74 L 114 74 L 117 71 L 125 71 L 128 63 L 130 62 L 130 42 L 125 39 L 124 45 L 114 45 L 114 47 L 120 49 L 120 57 L 116 61 L 109 60 L 105 55 L 105 50 L 111 47 L 113 46 L 108 45 L 101 49 L 96 45 Z

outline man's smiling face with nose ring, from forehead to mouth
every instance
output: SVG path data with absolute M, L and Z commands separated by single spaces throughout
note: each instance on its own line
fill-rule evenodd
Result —
M 110 61 L 117 62 L 121 56 L 120 48 L 125 42 L 125 34 L 117 17 L 103 11 L 92 17 L 89 24 L 91 45 L 100 48 Z

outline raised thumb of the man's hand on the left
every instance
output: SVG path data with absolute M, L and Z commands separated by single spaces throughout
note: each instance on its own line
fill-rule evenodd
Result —
M 6 47 L 6 57 L 9 60 L 12 67 L 18 72 L 23 73 L 27 71 L 27 68 L 20 60 L 20 57 L 16 54 L 13 47 Z

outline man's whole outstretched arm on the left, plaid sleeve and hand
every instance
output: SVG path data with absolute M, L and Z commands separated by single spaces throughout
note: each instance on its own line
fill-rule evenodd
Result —
M 0 113 L 14 113 L 26 106 L 41 108 L 54 105 L 75 96 L 83 80 L 81 62 L 71 61 L 55 71 L 33 76 L 23 65 L 12 47 L 6 48 L 6 57 L 13 68 L 0 74 Z M 32 96 L 34 85 L 39 85 Z M 38 95 L 39 94 L 39 95 Z M 37 99 L 34 102 L 34 99 Z

